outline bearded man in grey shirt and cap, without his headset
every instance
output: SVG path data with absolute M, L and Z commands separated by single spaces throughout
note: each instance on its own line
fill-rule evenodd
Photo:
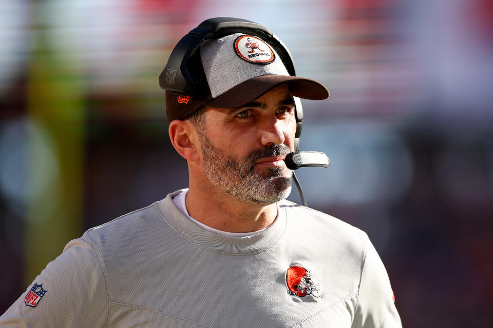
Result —
M 249 57 L 246 37 L 266 55 Z M 199 54 L 201 88 L 166 92 L 188 189 L 70 241 L 0 325 L 401 326 L 366 234 L 285 200 L 293 96 L 324 99 L 327 89 L 290 76 L 258 36 L 206 39 Z M 163 74 L 176 83 L 175 69 Z

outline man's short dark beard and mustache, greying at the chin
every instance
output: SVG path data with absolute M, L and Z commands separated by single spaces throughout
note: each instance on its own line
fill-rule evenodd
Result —
M 205 133 L 199 134 L 204 174 L 223 192 L 256 204 L 272 204 L 291 193 L 293 171 L 287 167 L 255 170 L 255 162 L 261 158 L 289 154 L 288 146 L 281 144 L 254 150 L 242 160 L 237 160 L 216 148 Z

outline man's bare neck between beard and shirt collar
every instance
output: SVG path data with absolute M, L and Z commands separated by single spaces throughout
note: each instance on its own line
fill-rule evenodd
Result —
M 214 229 L 252 232 L 270 226 L 277 216 L 276 204 L 246 202 L 224 193 L 208 181 L 189 181 L 185 198 L 188 214 Z

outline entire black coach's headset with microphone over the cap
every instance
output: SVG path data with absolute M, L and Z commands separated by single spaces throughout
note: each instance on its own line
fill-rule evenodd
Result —
M 204 20 L 192 31 L 183 36 L 173 49 L 168 62 L 159 75 L 161 89 L 177 95 L 193 95 L 206 85 L 206 77 L 200 60 L 200 46 L 205 40 L 220 38 L 234 33 L 250 34 L 260 37 L 267 42 L 281 58 L 289 75 L 296 76 L 293 57 L 282 41 L 267 27 L 251 20 L 235 17 L 215 17 Z M 166 70 L 176 69 L 175 83 L 169 86 L 166 83 Z M 178 69 L 179 68 L 179 69 Z M 329 167 L 330 159 L 321 152 L 299 152 L 299 137 L 303 128 L 303 108 L 301 100 L 293 97 L 295 103 L 296 133 L 294 138 L 294 152 L 286 156 L 286 166 L 291 170 L 300 167 Z M 305 196 L 296 175 L 293 180 L 298 188 L 301 202 L 307 206 Z

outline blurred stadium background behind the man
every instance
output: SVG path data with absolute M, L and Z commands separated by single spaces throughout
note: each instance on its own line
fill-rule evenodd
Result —
M 297 175 L 368 233 L 404 326 L 493 326 L 488 0 L 0 0 L 0 314 L 70 239 L 187 187 L 158 75 L 217 16 L 266 25 L 330 90 L 300 149 L 331 167 Z

